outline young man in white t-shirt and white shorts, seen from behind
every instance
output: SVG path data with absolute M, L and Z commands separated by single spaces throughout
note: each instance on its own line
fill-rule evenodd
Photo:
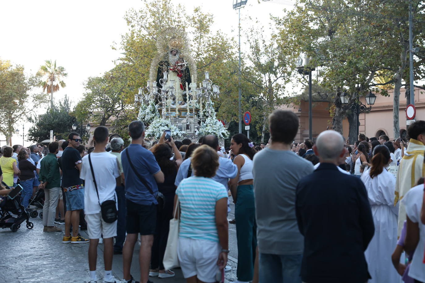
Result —
M 100 205 L 106 200 L 117 200 L 115 187 L 120 182 L 120 171 L 116 156 L 105 151 L 108 143 L 108 128 L 99 126 L 94 130 L 93 140 L 96 141 L 94 151 L 83 157 L 80 178 L 85 180 L 84 211 L 87 221 L 87 231 L 90 238 L 88 248 L 88 265 L 90 269 L 89 282 L 98 282 L 96 277 L 97 245 L 99 238 L 103 237 L 105 251 L 105 283 L 118 283 L 119 280 L 112 276 L 113 237 L 116 236 L 116 222 L 106 223 L 102 219 Z M 94 185 L 93 175 L 88 157 L 93 165 L 94 177 L 97 185 Z M 99 196 L 98 196 L 99 194 Z M 118 205 L 117 205 L 118 210 Z

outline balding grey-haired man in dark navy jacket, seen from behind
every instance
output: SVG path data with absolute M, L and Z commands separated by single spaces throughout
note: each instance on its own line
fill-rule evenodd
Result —
M 313 147 L 320 166 L 298 182 L 295 212 L 304 235 L 305 283 L 365 283 L 364 256 L 374 223 L 363 182 L 337 169 L 347 149 L 341 134 L 322 132 Z

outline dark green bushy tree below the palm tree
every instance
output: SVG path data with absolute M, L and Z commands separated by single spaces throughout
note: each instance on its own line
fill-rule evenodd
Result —
M 81 132 L 80 124 L 77 121 L 77 118 L 70 114 L 71 106 L 69 104 L 69 98 L 65 95 L 62 101 L 59 101 L 59 104 L 54 104 L 53 107 L 47 109 L 44 115 L 39 117 L 32 117 L 28 120 L 31 123 L 34 123 L 28 130 L 28 138 L 34 142 L 41 142 L 42 140 L 48 140 L 50 138 L 50 131 L 52 130 L 56 136 L 56 140 L 68 140 L 68 134 L 74 132 L 72 130 L 72 125 L 77 123 L 78 129 L 76 132 Z M 88 140 L 88 132 L 83 127 L 82 139 Z

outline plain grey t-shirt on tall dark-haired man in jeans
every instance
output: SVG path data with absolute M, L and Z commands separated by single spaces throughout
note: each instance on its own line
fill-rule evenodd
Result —
M 298 181 L 314 171 L 313 164 L 292 151 L 265 148 L 254 155 L 255 216 L 261 253 L 301 255 L 304 238 L 295 216 Z

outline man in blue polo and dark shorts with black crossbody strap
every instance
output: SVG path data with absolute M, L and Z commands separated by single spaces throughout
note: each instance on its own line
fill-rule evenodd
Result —
M 153 234 L 156 229 L 156 205 L 158 204 L 156 201 L 158 194 L 156 183 L 164 182 L 164 174 L 153 153 L 143 147 L 143 122 L 139 120 L 131 122 L 128 125 L 128 134 L 131 137 L 131 144 L 121 154 L 127 204 L 127 238 L 122 249 L 124 280 L 127 283 L 152 283 L 149 280 L 149 265 Z M 135 171 L 144 181 L 139 179 Z M 152 193 L 144 183 L 150 187 Z M 139 233 L 141 235 L 140 282 L 134 280 L 130 275 L 131 259 Z

